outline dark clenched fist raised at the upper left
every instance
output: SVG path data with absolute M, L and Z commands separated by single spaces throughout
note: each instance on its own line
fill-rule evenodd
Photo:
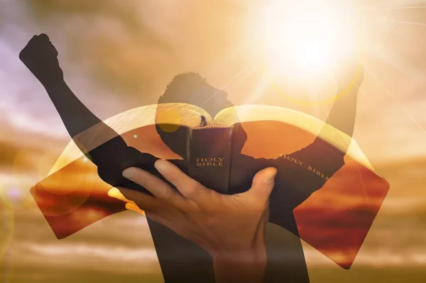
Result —
M 63 78 L 58 62 L 58 51 L 45 33 L 34 35 L 19 53 L 19 59 L 42 83 L 50 79 Z

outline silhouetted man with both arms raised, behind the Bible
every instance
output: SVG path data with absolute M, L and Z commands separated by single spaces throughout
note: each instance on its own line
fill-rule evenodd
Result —
M 82 152 L 97 165 L 99 177 L 104 182 L 114 187 L 128 187 L 147 192 L 139 185 L 122 177 L 121 172 L 128 167 L 141 167 L 162 177 L 153 167 L 157 157 L 128 147 L 118 133 L 94 116 L 67 87 L 58 62 L 58 52 L 50 43 L 48 35 L 35 35 L 31 38 L 28 45 L 21 51 L 20 58 L 43 84 L 68 133 Z M 356 96 L 362 78 L 361 74 L 359 79 L 353 82 L 354 86 L 351 87 L 349 93 L 335 102 L 327 118 L 327 123 L 349 136 L 354 130 Z M 339 91 L 346 88 L 351 83 L 351 79 L 353 79 L 352 74 L 346 78 L 339 77 Z M 211 116 L 232 106 L 231 102 L 226 99 L 224 91 L 209 86 L 199 74 L 195 73 L 176 76 L 158 100 L 158 103 L 178 102 L 202 106 Z M 344 113 L 345 119 L 342 119 L 342 113 Z M 200 117 L 201 126 L 202 123 L 203 119 Z M 95 125 L 101 125 L 102 135 L 109 137 L 109 141 L 87 152 L 86 148 L 92 147 L 84 144 L 87 143 L 86 141 L 79 140 L 78 134 Z M 158 126 L 156 128 L 164 143 L 183 158 L 183 160 L 170 161 L 185 172 L 185 152 L 182 151 L 180 144 L 184 142 L 185 138 L 180 134 L 182 128 L 178 128 L 175 133 L 166 133 Z M 275 178 L 275 187 L 270 198 L 269 221 L 298 235 L 293 209 L 317 189 L 320 189 L 326 179 L 320 178 L 316 174 L 305 174 L 305 170 L 301 170 L 297 164 L 285 162 L 282 158 L 276 160 L 255 159 L 241 154 L 247 135 L 239 123 L 234 126 L 234 137 L 236 137 L 236 139 L 234 138 L 234 143 L 235 140 L 236 143 L 233 148 L 232 162 L 233 167 L 239 168 L 239 170 L 233 172 L 230 177 L 229 193 L 244 192 L 245 189 L 251 187 L 251 179 L 256 172 L 266 167 L 276 167 L 278 175 Z M 349 143 L 346 145 L 346 150 L 348 147 Z M 332 145 L 321 138 L 316 138 L 306 148 L 288 156 L 295 160 L 305 160 L 312 167 L 321 167 L 323 173 L 331 177 L 344 165 L 345 152 L 338 152 Z M 247 178 L 248 175 L 251 178 Z M 302 190 L 290 189 L 295 184 Z M 205 250 L 150 218 L 147 220 L 165 282 L 214 282 L 212 259 Z M 283 282 L 283 278 L 288 282 L 309 282 L 300 238 L 294 237 L 291 240 L 280 241 L 279 245 L 280 250 L 285 250 L 285 255 L 278 255 L 276 258 L 275 254 L 270 256 L 273 253 L 273 247 L 268 248 L 267 243 L 266 282 Z

